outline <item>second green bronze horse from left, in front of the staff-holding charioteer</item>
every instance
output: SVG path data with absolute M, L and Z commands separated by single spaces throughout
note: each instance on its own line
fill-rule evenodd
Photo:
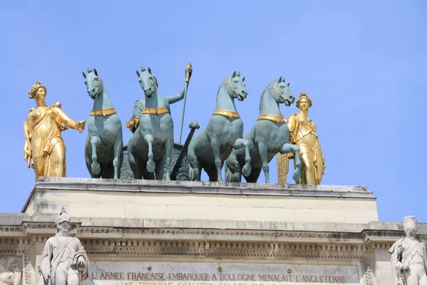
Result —
M 127 144 L 127 155 L 135 179 L 147 179 L 154 173 L 157 180 L 164 176 L 170 180 L 170 158 L 174 147 L 174 122 L 169 113 L 169 100 L 159 94 L 150 68 L 137 71 L 139 84 L 144 90 L 144 108 L 139 117 L 135 133 Z M 176 98 L 176 101 L 179 98 Z M 174 100 L 173 100 L 174 101 Z M 170 103 L 174 103 L 174 102 Z

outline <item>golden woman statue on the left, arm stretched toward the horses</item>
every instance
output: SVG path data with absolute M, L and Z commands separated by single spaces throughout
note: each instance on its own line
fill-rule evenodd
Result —
M 25 145 L 24 159 L 38 177 L 65 177 L 65 145 L 60 132 L 68 127 L 78 130 L 85 129 L 85 121 L 75 122 L 60 108 L 60 103 L 46 105 L 46 87 L 40 81 L 28 91 L 29 98 L 36 100 L 36 108 L 31 108 L 28 118 L 23 123 Z M 31 163 L 31 159 L 33 160 Z

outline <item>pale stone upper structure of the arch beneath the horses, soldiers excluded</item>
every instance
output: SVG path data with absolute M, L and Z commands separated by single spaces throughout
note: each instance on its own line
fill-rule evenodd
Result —
M 359 186 L 43 178 L 0 214 L 0 261 L 22 261 L 22 284 L 62 207 L 91 262 L 84 284 L 389 285 L 404 236 Z

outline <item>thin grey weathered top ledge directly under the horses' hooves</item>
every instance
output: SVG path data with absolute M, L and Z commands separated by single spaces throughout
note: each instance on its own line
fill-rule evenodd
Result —
M 115 190 L 127 192 L 174 192 L 228 195 L 286 195 L 319 197 L 369 197 L 364 186 L 292 185 L 164 180 L 115 180 L 70 177 L 41 177 L 34 188 L 66 190 Z

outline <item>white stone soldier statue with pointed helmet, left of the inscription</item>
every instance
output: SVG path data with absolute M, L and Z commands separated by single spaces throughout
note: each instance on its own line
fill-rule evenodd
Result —
M 89 260 L 80 240 L 70 237 L 70 217 L 63 208 L 56 217 L 56 235 L 45 244 L 38 285 L 80 285 L 88 278 Z

